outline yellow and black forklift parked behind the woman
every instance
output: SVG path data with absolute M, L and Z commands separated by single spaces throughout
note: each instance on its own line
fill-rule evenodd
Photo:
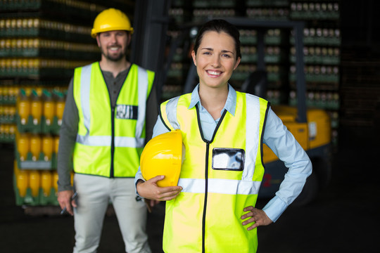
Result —
M 134 26 L 136 33 L 134 44 L 132 44 L 132 60 L 148 69 L 156 71 L 156 78 L 160 80 L 158 100 L 165 84 L 167 71 L 170 68 L 172 55 L 179 41 L 170 43 L 167 52 L 167 27 L 172 24 L 167 15 L 170 1 L 143 0 L 137 1 L 135 6 Z M 217 19 L 217 17 L 213 17 Z M 267 91 L 267 72 L 265 71 L 265 40 L 264 34 L 269 29 L 293 30 L 296 48 L 296 106 L 272 105 L 272 110 L 282 120 L 284 125 L 296 138 L 298 143 L 308 153 L 312 161 L 312 174 L 308 177 L 303 191 L 293 202 L 293 205 L 307 205 L 317 196 L 319 190 L 325 188 L 331 179 L 331 122 L 329 115 L 318 108 L 306 108 L 306 84 L 303 61 L 303 29 L 304 22 L 300 21 L 271 21 L 253 20 L 252 18 L 222 18 L 236 27 L 255 29 L 258 31 L 258 63 L 257 70 L 249 74 L 241 85 L 240 91 L 252 93 L 265 98 Z M 204 20 L 205 22 L 208 20 Z M 186 24 L 181 27 L 184 36 L 179 39 L 187 39 L 188 43 L 196 36 L 197 28 L 202 24 Z M 191 35 L 189 35 L 191 34 Z M 187 36 L 187 37 L 186 37 Z M 244 57 L 244 56 L 243 56 Z M 158 60 L 152 60 L 158 59 Z M 189 59 L 190 60 L 190 59 Z M 196 67 L 190 64 L 186 82 L 182 93 L 189 93 L 194 89 Z M 271 198 L 279 189 L 281 181 L 288 169 L 284 162 L 267 147 L 263 146 L 263 162 L 265 174 L 262 179 L 258 197 Z

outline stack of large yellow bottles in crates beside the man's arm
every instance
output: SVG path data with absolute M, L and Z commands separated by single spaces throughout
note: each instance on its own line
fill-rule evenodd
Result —
M 7 89 L 5 93 L 9 93 Z M 0 134 L 6 131 L 15 136 L 16 205 L 58 205 L 56 157 L 65 92 L 25 86 L 13 93 L 18 94 L 14 110 L 1 106 L 0 115 L 15 115 L 16 124 L 1 124 Z

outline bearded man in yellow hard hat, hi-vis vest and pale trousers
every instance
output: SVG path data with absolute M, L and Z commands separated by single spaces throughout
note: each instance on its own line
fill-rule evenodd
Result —
M 135 193 L 134 175 L 158 108 L 154 72 L 126 58 L 132 32 L 122 11 L 99 13 L 91 36 L 101 49 L 101 60 L 76 68 L 68 88 L 58 150 L 58 202 L 74 215 L 74 252 L 96 252 L 109 202 L 125 250 L 151 252 L 146 205 Z

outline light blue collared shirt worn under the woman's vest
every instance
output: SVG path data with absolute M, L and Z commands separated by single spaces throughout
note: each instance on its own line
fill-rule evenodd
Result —
M 199 85 L 199 84 L 198 84 Z M 210 113 L 201 105 L 201 98 L 199 98 L 198 86 L 191 93 L 190 108 L 198 106 L 199 117 L 201 120 L 201 127 L 203 130 L 203 137 L 210 140 L 219 122 L 219 119 L 213 119 Z M 229 85 L 229 92 L 224 108 L 220 111 L 220 115 L 224 110 L 234 115 L 236 108 L 236 91 Z M 153 129 L 153 137 L 159 134 L 167 133 L 169 130 L 158 117 L 156 125 Z M 264 131 L 264 143 L 284 162 L 285 166 L 289 168 L 285 174 L 284 181 L 282 181 L 276 195 L 265 205 L 262 209 L 265 214 L 273 221 L 277 221 L 279 216 L 285 209 L 296 199 L 301 192 L 303 185 L 308 176 L 312 172 L 312 164 L 305 150 L 296 141 L 293 134 L 291 134 L 286 126 L 281 122 L 281 119 L 270 110 L 267 115 L 267 122 Z M 137 171 L 135 183 L 137 180 L 144 178 L 141 171 Z

